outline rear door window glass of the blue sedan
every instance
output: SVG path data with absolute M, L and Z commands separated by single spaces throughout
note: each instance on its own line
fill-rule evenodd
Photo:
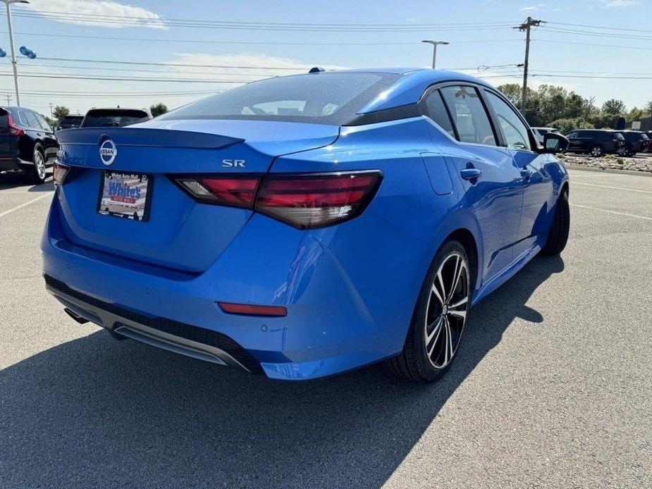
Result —
M 484 105 L 474 87 L 443 87 L 441 94 L 453 118 L 460 141 L 497 145 Z

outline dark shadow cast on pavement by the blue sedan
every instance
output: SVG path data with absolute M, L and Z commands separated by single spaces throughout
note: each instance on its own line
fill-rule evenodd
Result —
M 513 319 L 543 321 L 525 303 L 563 268 L 537 257 L 481 302 L 433 385 L 377 366 L 280 383 L 104 331 L 47 349 L 0 371 L 1 485 L 378 488 Z

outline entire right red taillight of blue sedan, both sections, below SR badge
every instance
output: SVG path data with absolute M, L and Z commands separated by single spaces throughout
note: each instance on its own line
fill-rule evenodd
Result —
M 255 209 L 299 229 L 321 228 L 359 216 L 378 189 L 380 171 L 241 177 L 173 175 L 205 204 Z

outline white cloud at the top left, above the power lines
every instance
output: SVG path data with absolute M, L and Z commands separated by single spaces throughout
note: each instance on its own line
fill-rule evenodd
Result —
M 166 29 L 164 20 L 145 8 L 120 4 L 113 0 L 30 0 L 26 8 L 37 11 L 42 16 L 57 22 L 92 25 L 93 27 L 148 27 L 150 29 Z M 68 15 L 61 15 L 66 13 Z M 75 17 L 75 14 L 82 14 Z M 109 17 L 109 20 L 98 22 L 93 18 Z

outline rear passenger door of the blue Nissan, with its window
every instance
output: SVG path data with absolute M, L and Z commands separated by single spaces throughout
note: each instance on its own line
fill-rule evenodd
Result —
M 479 223 L 486 282 L 513 259 L 521 211 L 521 176 L 510 152 L 498 146 L 477 87 L 442 85 L 427 94 L 425 102 L 427 115 L 457 140 L 446 145 L 445 158 L 455 168 L 466 204 Z

